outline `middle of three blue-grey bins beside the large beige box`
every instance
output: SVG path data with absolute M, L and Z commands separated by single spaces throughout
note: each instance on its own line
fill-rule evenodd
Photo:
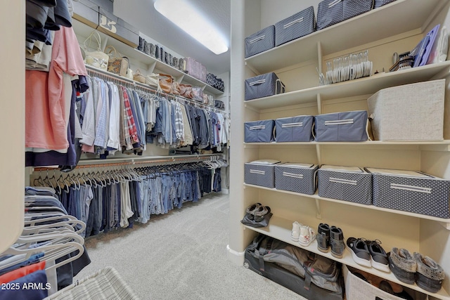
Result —
M 313 116 L 296 116 L 275 120 L 275 141 L 281 142 L 310 142 L 313 141 Z

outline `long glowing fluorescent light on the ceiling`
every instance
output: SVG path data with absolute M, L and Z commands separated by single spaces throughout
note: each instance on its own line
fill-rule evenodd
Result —
M 155 9 L 216 54 L 228 51 L 226 39 L 186 0 L 157 0 Z

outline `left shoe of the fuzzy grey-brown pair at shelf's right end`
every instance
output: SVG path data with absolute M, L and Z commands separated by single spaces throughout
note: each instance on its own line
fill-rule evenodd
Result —
M 388 257 L 389 266 L 394 276 L 401 282 L 414 284 L 417 263 L 408 250 L 403 248 L 392 248 Z

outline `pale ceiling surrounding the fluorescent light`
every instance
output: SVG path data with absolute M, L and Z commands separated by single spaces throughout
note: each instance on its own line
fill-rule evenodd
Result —
M 192 57 L 203 63 L 208 72 L 219 75 L 230 70 L 230 50 L 216 55 L 198 41 L 176 27 L 160 15 L 153 3 L 155 0 L 115 0 L 114 14 L 129 22 L 140 32 L 180 56 Z M 170 1 L 170 0 L 166 0 Z M 230 41 L 230 0 L 188 0 L 201 13 L 207 15 L 211 22 L 221 30 Z M 230 47 L 229 47 L 230 48 Z

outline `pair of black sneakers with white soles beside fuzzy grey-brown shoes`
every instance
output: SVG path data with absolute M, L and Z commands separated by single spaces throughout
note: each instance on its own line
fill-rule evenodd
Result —
M 364 238 L 349 237 L 347 247 L 352 252 L 353 260 L 361 266 L 373 267 L 390 273 L 389 261 L 380 240 L 366 240 Z

